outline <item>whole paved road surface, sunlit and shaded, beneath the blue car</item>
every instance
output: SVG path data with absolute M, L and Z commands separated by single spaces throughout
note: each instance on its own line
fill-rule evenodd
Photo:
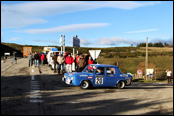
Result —
M 170 84 L 82 90 L 64 84 L 47 65 L 28 67 L 23 58 L 7 64 L 1 63 L 2 115 L 173 115 Z

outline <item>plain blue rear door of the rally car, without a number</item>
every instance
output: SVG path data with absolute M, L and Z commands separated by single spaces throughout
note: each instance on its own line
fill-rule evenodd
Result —
M 116 69 L 114 67 L 106 67 L 106 76 L 105 76 L 107 86 L 115 86 L 116 81 L 118 80 Z

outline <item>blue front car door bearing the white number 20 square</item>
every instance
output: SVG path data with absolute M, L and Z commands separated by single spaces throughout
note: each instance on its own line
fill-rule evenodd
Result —
M 101 73 L 99 73 L 98 70 L 101 70 Z M 102 87 L 106 86 L 106 80 L 105 80 L 105 67 L 98 67 L 96 69 L 96 72 L 94 74 L 94 81 L 93 86 L 94 87 Z

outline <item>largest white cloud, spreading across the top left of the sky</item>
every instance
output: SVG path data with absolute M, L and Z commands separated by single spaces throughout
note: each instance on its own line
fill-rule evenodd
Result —
M 98 8 L 134 9 L 160 2 L 135 1 L 34 1 L 20 4 L 1 4 L 2 28 L 19 28 L 47 23 L 43 16 L 59 15 Z

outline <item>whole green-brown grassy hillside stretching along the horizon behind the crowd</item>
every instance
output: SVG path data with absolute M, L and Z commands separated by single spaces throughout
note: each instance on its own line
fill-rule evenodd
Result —
M 4 48 L 8 46 L 10 49 Z M 42 52 L 44 46 L 32 46 L 32 45 L 18 45 L 10 43 L 1 43 L 1 56 L 3 52 L 10 50 L 21 51 L 23 47 L 32 47 L 33 51 L 38 53 Z M 59 46 L 50 46 L 56 47 L 60 50 Z M 2 49 L 3 48 L 3 49 Z M 86 48 L 80 47 L 79 53 L 88 53 L 89 50 L 101 50 L 101 53 L 97 59 L 97 62 L 100 64 L 111 64 L 115 65 L 116 62 L 119 63 L 119 67 L 123 73 L 130 72 L 136 74 L 138 69 L 144 71 L 145 69 L 145 56 L 146 48 L 145 47 L 110 47 L 110 48 Z M 135 52 L 131 52 L 134 50 Z M 67 52 L 73 52 L 72 47 L 66 46 Z M 173 46 L 172 47 L 149 47 L 148 48 L 149 56 L 149 68 L 156 68 L 158 78 L 166 75 L 165 70 L 170 68 L 173 72 Z

